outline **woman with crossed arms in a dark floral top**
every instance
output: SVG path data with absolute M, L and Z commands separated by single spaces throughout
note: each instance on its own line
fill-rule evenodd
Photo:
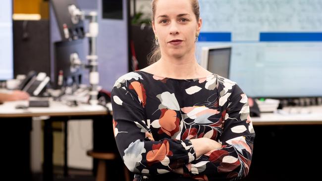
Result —
M 195 58 L 198 0 L 153 0 L 158 61 L 112 90 L 117 147 L 137 180 L 214 181 L 248 174 L 255 133 L 236 83 Z

